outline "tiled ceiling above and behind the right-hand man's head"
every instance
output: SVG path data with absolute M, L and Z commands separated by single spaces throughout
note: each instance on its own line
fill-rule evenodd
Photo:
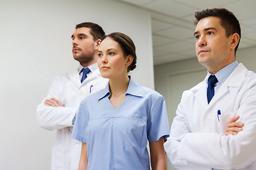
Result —
M 239 49 L 256 47 L 255 0 L 118 0 L 151 13 L 154 64 L 186 60 L 196 56 L 193 13 L 201 8 L 224 7 L 240 21 Z

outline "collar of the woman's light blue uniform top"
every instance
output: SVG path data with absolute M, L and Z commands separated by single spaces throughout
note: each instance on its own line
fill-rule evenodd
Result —
M 127 96 L 127 95 L 138 96 L 138 97 L 144 96 L 142 93 L 141 86 L 139 84 L 137 84 L 137 82 L 134 81 L 134 79 L 132 79 L 132 77 L 129 76 L 129 79 L 130 79 L 129 85 L 128 85 L 127 92 L 125 93 L 125 96 Z M 102 98 L 109 97 L 109 96 L 110 96 L 110 83 L 108 83 L 107 86 L 105 86 L 105 89 L 102 89 L 100 96 L 99 96 L 99 101 Z

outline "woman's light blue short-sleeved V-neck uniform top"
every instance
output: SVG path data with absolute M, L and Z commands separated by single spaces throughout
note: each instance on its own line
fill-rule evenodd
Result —
M 124 102 L 114 108 L 107 84 L 80 104 L 72 137 L 87 143 L 88 170 L 149 170 L 147 141 L 169 137 L 161 94 L 130 78 L 125 96 Z

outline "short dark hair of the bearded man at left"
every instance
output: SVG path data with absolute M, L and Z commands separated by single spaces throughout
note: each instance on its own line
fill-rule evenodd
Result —
M 102 29 L 101 26 L 97 25 L 97 23 L 90 23 L 90 22 L 79 23 L 78 25 L 75 26 L 75 29 L 82 28 L 82 27 L 91 29 L 90 33 L 92 34 L 93 40 L 98 40 L 98 39 L 102 40 L 102 38 L 105 36 L 104 30 Z

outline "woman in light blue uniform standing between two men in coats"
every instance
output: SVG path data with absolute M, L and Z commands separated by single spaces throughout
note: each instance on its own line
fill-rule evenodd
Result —
M 109 84 L 87 96 L 77 113 L 72 137 L 82 142 L 79 169 L 166 169 L 164 139 L 169 124 L 163 96 L 137 84 L 132 39 L 123 33 L 103 38 L 97 64 Z M 146 149 L 149 141 L 149 153 Z

